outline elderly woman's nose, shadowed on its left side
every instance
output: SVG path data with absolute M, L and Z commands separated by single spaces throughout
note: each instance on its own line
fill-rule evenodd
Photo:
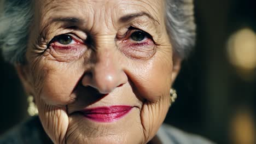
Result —
M 108 50 L 95 52 L 95 62 L 84 74 L 83 86 L 91 86 L 101 94 L 108 94 L 128 81 L 115 53 Z

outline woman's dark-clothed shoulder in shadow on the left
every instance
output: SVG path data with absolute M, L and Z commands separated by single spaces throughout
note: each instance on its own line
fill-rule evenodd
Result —
M 32 117 L 0 137 L 0 144 L 38 143 L 42 125 L 38 117 Z

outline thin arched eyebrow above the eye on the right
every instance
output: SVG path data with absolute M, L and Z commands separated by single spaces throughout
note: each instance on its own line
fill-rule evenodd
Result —
M 137 17 L 141 17 L 141 16 L 147 16 L 150 20 L 157 22 L 160 25 L 158 20 L 154 19 L 152 15 L 146 12 L 125 15 L 125 16 L 122 16 L 119 19 L 119 21 L 122 23 L 125 23 L 125 22 L 132 21 L 133 19 L 136 19 Z

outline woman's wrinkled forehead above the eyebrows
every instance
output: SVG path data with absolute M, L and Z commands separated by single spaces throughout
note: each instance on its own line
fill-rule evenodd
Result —
M 163 15 L 164 0 L 39 0 L 36 17 L 42 21 L 51 17 L 80 16 L 85 19 L 119 19 L 120 17 L 146 12 L 159 20 Z M 95 21 L 95 20 L 94 20 Z

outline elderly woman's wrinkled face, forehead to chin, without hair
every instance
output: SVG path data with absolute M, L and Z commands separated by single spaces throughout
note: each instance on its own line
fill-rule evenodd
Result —
M 146 143 L 154 137 L 178 73 L 164 5 L 34 3 L 21 78 L 55 143 Z

